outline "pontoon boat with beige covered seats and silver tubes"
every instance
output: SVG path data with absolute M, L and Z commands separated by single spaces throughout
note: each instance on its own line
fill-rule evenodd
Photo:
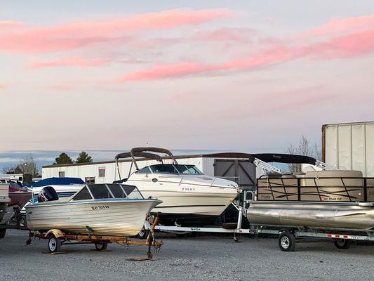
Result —
M 279 159 L 314 163 L 325 170 L 260 177 L 257 200 L 250 201 L 247 210 L 251 224 L 316 229 L 374 228 L 374 178 L 363 178 L 361 171 L 328 170 L 326 164 L 321 165 L 312 157 L 294 156 L 280 155 Z

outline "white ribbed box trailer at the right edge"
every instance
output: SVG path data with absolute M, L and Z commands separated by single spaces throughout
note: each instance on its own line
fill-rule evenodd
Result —
M 374 176 L 374 122 L 322 126 L 322 161 Z

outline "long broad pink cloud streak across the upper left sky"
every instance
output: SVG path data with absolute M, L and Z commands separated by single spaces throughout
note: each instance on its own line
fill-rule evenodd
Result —
M 165 30 L 184 25 L 200 25 L 228 18 L 225 9 L 201 11 L 171 10 L 134 15 L 129 18 L 75 22 L 54 27 L 27 27 L 0 34 L 0 49 L 8 52 L 48 52 L 93 46 L 118 40 L 131 41 L 131 32 Z

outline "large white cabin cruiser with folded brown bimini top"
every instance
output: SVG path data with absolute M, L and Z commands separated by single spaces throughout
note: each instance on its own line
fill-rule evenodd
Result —
M 156 152 L 168 155 L 172 164 L 164 164 Z M 162 200 L 152 209 L 163 225 L 203 226 L 215 219 L 238 195 L 239 187 L 233 181 L 206 176 L 194 165 L 178 164 L 173 154 L 163 148 L 133 148 L 130 152 L 116 155 L 119 159 L 131 157 L 128 178 L 119 182 L 136 185 L 145 197 Z M 139 168 L 136 157 L 161 162 Z M 132 167 L 135 171 L 131 173 Z

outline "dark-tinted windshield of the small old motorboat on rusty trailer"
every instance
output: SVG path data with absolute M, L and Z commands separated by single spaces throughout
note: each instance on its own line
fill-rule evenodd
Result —
M 111 184 L 90 184 L 86 185 L 73 197 L 77 200 L 128 198 L 142 199 L 142 194 L 134 185 Z

